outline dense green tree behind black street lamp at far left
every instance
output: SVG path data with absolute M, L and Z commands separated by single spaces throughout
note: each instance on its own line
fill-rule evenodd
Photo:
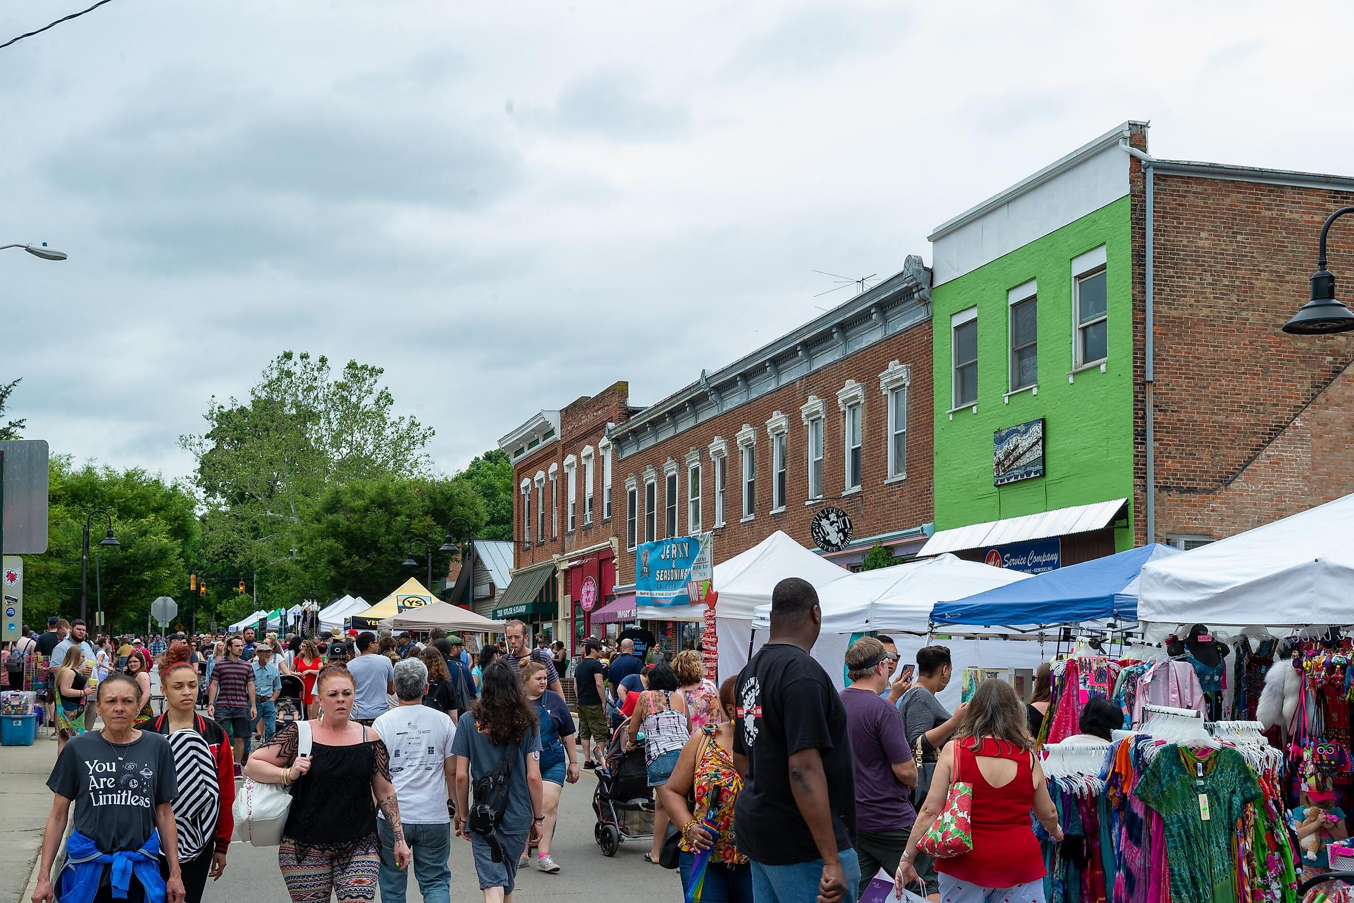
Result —
M 84 464 L 56 455 L 49 474 L 49 548 L 27 559 L 24 620 L 38 625 L 50 615 L 80 615 L 80 552 L 85 519 L 103 508 L 112 516 L 116 548 L 99 547 L 107 520 L 95 517 L 89 548 L 89 621 L 96 611 L 96 577 L 106 623 L 112 630 L 145 628 L 157 596 L 181 600 L 188 589 L 185 562 L 198 542 L 195 500 L 187 486 L 131 468 Z M 97 556 L 97 558 L 96 558 Z M 97 566 L 97 574 L 96 574 Z

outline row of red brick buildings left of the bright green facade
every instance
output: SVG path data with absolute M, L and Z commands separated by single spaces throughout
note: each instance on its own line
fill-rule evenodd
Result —
M 842 566 L 875 543 L 914 552 L 932 521 L 929 278 L 909 257 L 657 405 L 632 408 L 620 382 L 504 436 L 517 551 L 497 616 L 577 640 L 603 630 L 592 611 L 632 598 L 638 543 L 712 531 L 716 562 L 777 529 L 812 547 L 827 506 L 852 520 L 853 540 L 830 555 Z M 695 624 L 685 643 L 657 627 L 669 648 L 695 642 Z

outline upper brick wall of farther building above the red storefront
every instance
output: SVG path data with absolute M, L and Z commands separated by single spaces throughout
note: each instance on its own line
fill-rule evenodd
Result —
M 538 449 L 532 455 L 524 456 L 513 466 L 513 486 L 516 491 L 516 502 L 513 509 L 513 535 L 517 536 L 517 548 L 515 554 L 515 567 L 523 569 L 531 565 L 548 560 L 552 555 L 563 555 L 571 552 L 577 548 L 586 548 L 597 543 L 604 543 L 611 539 L 615 532 L 613 524 L 617 517 L 616 504 L 624 494 L 624 478 L 616 477 L 616 459 L 615 452 L 612 452 L 612 519 L 603 520 L 603 458 L 598 443 L 607 435 L 607 424 L 621 424 L 630 417 L 630 384 L 626 382 L 617 382 L 605 390 L 597 393 L 596 395 L 588 398 L 580 398 L 570 405 L 565 406 L 559 412 L 559 439 L 556 441 L 548 443 Z M 584 524 L 584 505 L 586 500 L 586 487 L 584 485 L 584 463 L 582 451 L 585 447 L 592 445 L 594 452 L 594 470 L 593 470 L 593 521 L 592 524 Z M 573 455 L 578 459 L 577 463 L 577 519 L 575 529 L 569 531 L 569 478 L 565 472 L 565 459 Z M 559 500 L 558 500 L 558 535 L 554 532 L 552 527 L 555 521 L 552 520 L 551 512 L 551 491 L 550 481 L 546 481 L 546 532 L 544 536 L 539 536 L 536 531 L 536 490 L 535 485 L 532 487 L 531 497 L 531 547 L 521 546 L 521 537 L 525 535 L 525 523 L 523 520 L 523 497 L 521 490 L 516 489 L 521 486 L 523 479 L 533 479 L 536 472 L 550 472 L 550 466 L 556 466 L 556 477 L 559 481 Z M 624 521 L 620 521 L 621 525 Z

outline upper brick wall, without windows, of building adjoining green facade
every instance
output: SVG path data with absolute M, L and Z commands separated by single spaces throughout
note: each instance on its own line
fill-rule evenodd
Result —
M 894 360 L 911 367 L 907 399 L 907 477 L 902 481 L 886 482 L 888 477 L 888 399 L 880 390 L 879 378 Z M 862 466 L 861 490 L 842 498 L 845 440 L 844 414 L 837 403 L 837 393 L 848 379 L 854 379 L 865 390 L 861 437 Z M 806 505 L 808 498 L 808 440 L 800 408 L 810 395 L 821 398 L 825 410 L 823 500 Z M 766 431 L 766 421 L 776 412 L 783 413 L 789 421 L 785 448 L 787 504 L 784 512 L 772 514 L 772 440 Z M 678 464 L 677 535 L 686 535 L 686 456 L 692 448 L 696 448 L 700 452 L 701 464 L 701 525 L 704 529 L 711 529 L 715 514 L 715 471 L 709 458 L 709 444 L 716 436 L 723 437 L 728 444 L 726 527 L 714 531 L 716 562 L 746 551 L 777 529 L 784 531 L 800 544 L 811 547 L 810 521 L 819 509 L 826 506 L 837 506 L 850 514 L 856 537 L 915 528 L 930 523 L 933 520 L 930 417 L 932 326 L 930 321 L 926 320 L 651 448 L 617 459 L 613 463 L 616 468 L 613 474 L 616 486 L 615 521 L 621 554 L 616 560 L 616 582 L 632 583 L 635 577 L 634 554 L 626 550 L 627 477 L 634 475 L 639 485 L 639 542 L 659 539 L 666 535 L 663 525 L 666 504 L 663 464 L 669 459 L 676 460 Z M 754 452 L 757 468 L 756 513 L 753 520 L 739 523 L 742 516 L 741 455 L 735 437 L 745 424 L 750 425 L 757 435 Z M 658 536 L 646 537 L 643 535 L 643 474 L 645 468 L 650 466 L 658 477 Z

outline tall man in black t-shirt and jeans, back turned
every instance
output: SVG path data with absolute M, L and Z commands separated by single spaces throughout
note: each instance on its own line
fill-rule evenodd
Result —
M 808 654 L 822 617 L 812 583 L 776 583 L 770 636 L 738 676 L 734 761 L 746 783 L 734 831 L 757 903 L 854 903 L 860 884 L 846 707 Z

